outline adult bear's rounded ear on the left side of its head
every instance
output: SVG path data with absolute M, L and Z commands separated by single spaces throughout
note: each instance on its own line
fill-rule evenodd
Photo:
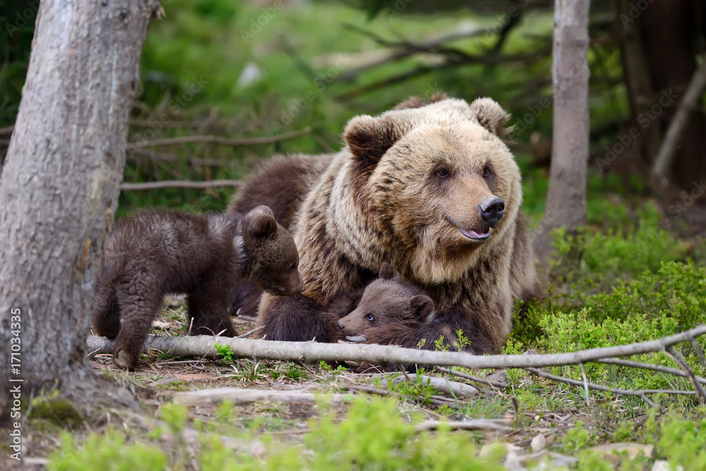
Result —
M 393 127 L 384 118 L 357 116 L 348 121 L 343 138 L 350 151 L 366 167 L 374 167 L 397 141 Z

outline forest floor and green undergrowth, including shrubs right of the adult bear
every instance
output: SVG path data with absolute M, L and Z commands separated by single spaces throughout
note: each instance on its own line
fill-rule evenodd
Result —
M 555 234 L 549 296 L 517 306 L 505 353 L 572 352 L 654 340 L 706 322 L 706 268 L 690 249 L 702 248 L 703 241 L 682 242 L 659 229 L 659 213 L 651 206 L 635 214 L 622 226 L 604 221 L 601 228 Z M 242 332 L 253 327 L 235 322 Z M 187 330 L 179 302 L 166 307 L 155 323 L 158 335 Z M 705 340 L 699 339 L 702 348 Z M 696 374 L 706 376 L 692 344 L 684 342 L 677 350 Z M 657 405 L 650 407 L 639 396 L 615 392 L 693 391 L 686 378 L 657 371 L 589 363 L 587 381 L 614 392 L 586 394 L 580 386 L 510 370 L 506 388 L 480 385 L 484 394 L 461 398 L 435 390 L 421 376 L 400 383 L 390 380 L 401 373 L 232 360 L 225 349 L 222 356 L 211 361 L 152 353 L 140 369 L 126 373 L 110 364 L 109 355 L 97 355 L 95 369 L 140 398 L 141 418 L 107 410 L 102 420 L 66 422 L 59 412 L 52 417 L 51 396 L 35 398 L 26 435 L 29 454 L 46 456 L 52 470 L 492 470 L 512 468 L 517 459 L 526 469 L 644 470 L 655 460 L 668 461 L 672 469 L 706 469 L 706 409 L 695 395 L 648 393 Z M 626 359 L 676 366 L 660 352 Z M 456 370 L 474 376 L 494 373 Z M 583 378 L 578 366 L 545 371 Z M 425 374 L 464 381 L 438 371 Z M 224 386 L 301 390 L 315 393 L 318 400 L 193 407 L 172 402 L 181 391 Z M 335 393 L 345 399 L 330 402 L 327 398 Z M 508 429 L 417 429 L 430 419 L 481 418 Z M 530 443 L 539 435 L 546 444 L 534 453 Z M 628 458 L 631 451 L 617 455 L 596 448 L 623 442 L 653 448 L 642 448 L 647 455 L 634 458 Z M 520 449 L 510 451 L 508 444 Z

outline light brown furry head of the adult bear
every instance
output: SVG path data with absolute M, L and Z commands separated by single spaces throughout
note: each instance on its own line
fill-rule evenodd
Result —
M 333 198 L 346 191 L 353 197 L 359 206 L 353 219 L 364 217 L 358 228 L 389 238 L 389 253 L 380 256 L 405 278 L 456 280 L 512 239 L 505 233 L 514 230 L 522 189 L 502 139 L 508 119 L 489 98 L 468 104 L 444 97 L 354 117 L 344 133 L 349 189 Z

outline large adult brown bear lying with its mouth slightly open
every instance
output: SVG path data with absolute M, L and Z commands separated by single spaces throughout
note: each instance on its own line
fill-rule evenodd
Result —
M 376 333 L 378 341 L 416 347 L 425 339 L 433 348 L 463 330 L 467 350 L 499 353 L 513 296 L 537 292 L 520 170 L 502 139 L 508 118 L 489 98 L 414 98 L 351 119 L 337 154 L 279 157 L 251 175 L 229 211 L 273 208 L 294 234 L 307 288 L 262 297 L 265 338 L 337 340 L 337 320 L 389 261 L 429 292 L 436 316 L 404 333 Z

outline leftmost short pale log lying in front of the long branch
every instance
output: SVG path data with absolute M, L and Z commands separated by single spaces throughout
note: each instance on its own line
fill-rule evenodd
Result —
M 217 405 L 226 399 L 234 405 L 252 404 L 260 400 L 270 400 L 277 403 L 316 404 L 316 401 L 321 399 L 331 403 L 342 403 L 347 400 L 347 395 L 243 388 L 200 389 L 174 394 L 174 403 L 189 406 Z

